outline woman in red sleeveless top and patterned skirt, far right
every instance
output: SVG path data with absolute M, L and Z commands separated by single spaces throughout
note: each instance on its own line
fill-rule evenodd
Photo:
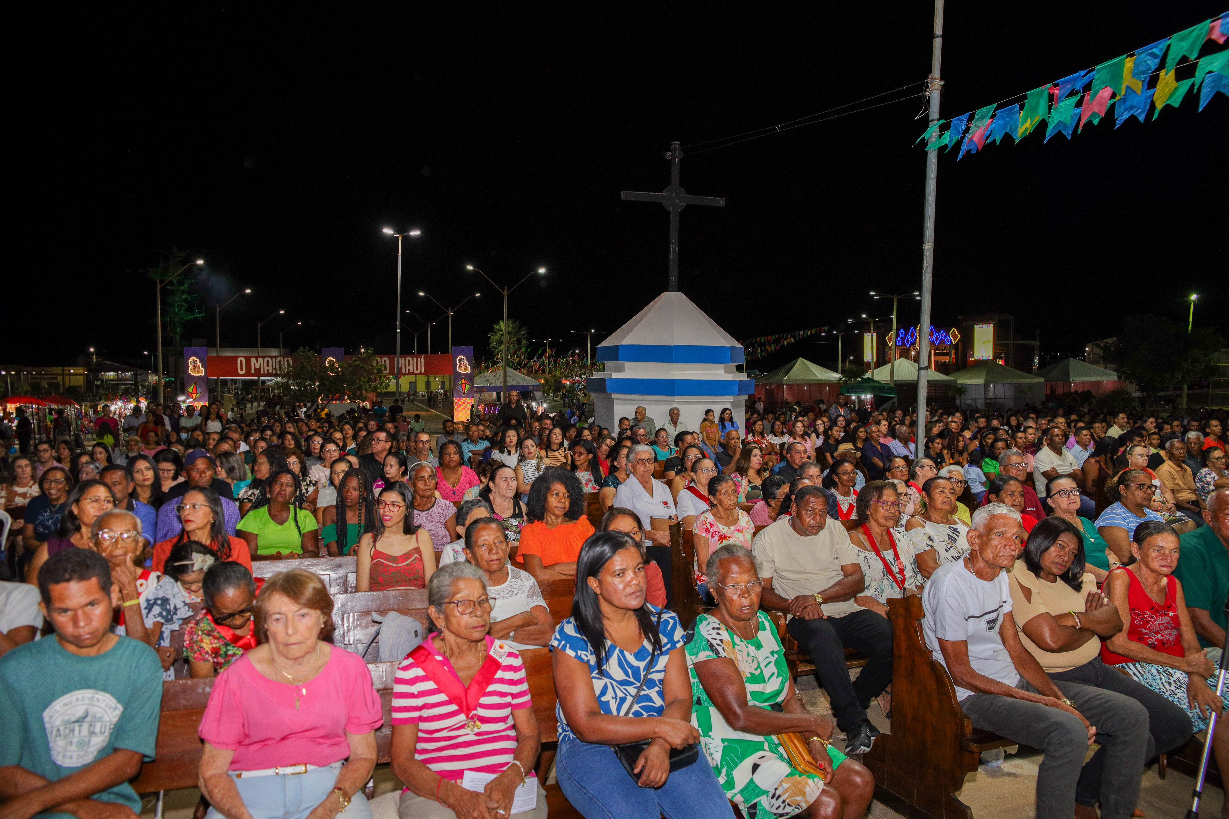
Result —
M 1198 732 L 1211 715 L 1224 715 L 1224 702 L 1213 690 L 1215 666 L 1207 650 L 1200 650 L 1182 583 L 1174 577 L 1179 549 L 1177 533 L 1168 523 L 1144 521 L 1136 527 L 1136 562 L 1111 570 L 1102 587 L 1122 615 L 1122 631 L 1101 643 L 1101 661 L 1185 708 Z M 1220 770 L 1229 770 L 1229 731 L 1220 727 L 1218 721 L 1213 749 Z

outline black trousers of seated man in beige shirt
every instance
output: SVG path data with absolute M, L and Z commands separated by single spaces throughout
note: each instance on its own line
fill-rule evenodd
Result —
M 865 720 L 866 706 L 892 683 L 892 624 L 887 618 L 859 609 L 842 618 L 790 618 L 787 629 L 811 656 L 841 731 Z M 847 646 L 870 658 L 855 680 L 846 668 Z

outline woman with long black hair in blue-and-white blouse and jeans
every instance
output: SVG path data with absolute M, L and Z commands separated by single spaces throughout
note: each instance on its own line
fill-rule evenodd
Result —
M 581 549 L 571 616 L 551 640 L 559 788 L 590 819 L 725 819 L 730 803 L 697 754 L 683 627 L 645 602 L 644 564 L 623 532 L 599 532 Z M 673 764 L 671 750 L 682 751 Z

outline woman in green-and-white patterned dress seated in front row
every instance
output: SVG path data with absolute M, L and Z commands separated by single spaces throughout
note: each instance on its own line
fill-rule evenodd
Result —
M 760 611 L 763 582 L 755 557 L 737 544 L 708 559 L 718 608 L 696 620 L 687 645 L 692 724 L 725 796 L 746 819 L 857 819 L 875 778 L 831 747 L 836 722 L 810 713 L 798 697 L 777 629 Z M 777 734 L 801 733 L 816 766 L 794 767 Z

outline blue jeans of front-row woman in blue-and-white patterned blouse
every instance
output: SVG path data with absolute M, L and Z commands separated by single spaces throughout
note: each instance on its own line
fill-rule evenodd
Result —
M 610 745 L 560 737 L 554 774 L 559 790 L 585 819 L 734 818 L 704 754 L 671 774 L 660 788 L 642 788 Z

